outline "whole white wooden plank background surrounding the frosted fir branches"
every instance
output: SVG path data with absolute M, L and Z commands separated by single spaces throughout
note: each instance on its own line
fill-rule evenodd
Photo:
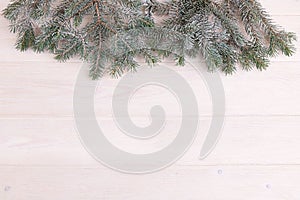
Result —
M 1 0 L 4 9 L 8 0 Z M 272 17 L 300 38 L 299 0 L 261 0 Z M 20 53 L 0 17 L 0 200 L 297 200 L 300 199 L 300 51 L 272 60 L 265 72 L 223 76 L 226 122 L 216 149 L 198 160 L 210 123 L 210 100 L 191 67 L 200 104 L 199 135 L 173 166 L 147 175 L 115 172 L 83 148 L 73 121 L 72 95 L 81 62 L 58 63 L 51 55 Z M 300 41 L 297 42 L 300 49 Z M 108 137 L 128 151 L 153 151 L 174 135 L 138 144 L 121 136 L 109 103 L 117 80 L 105 77 L 96 112 Z M 152 96 L 151 96 L 152 95 Z M 131 104 L 137 123 L 147 124 L 153 103 L 166 106 L 166 129 L 176 133 L 176 101 L 159 88 L 140 91 Z M 146 105 L 146 106 L 145 106 Z M 173 107 L 174 106 L 174 107 Z

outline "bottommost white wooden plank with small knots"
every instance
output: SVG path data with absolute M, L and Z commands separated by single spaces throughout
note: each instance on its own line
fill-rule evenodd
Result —
M 0 167 L 3 200 L 296 200 L 299 166 L 172 167 L 120 174 L 102 167 Z

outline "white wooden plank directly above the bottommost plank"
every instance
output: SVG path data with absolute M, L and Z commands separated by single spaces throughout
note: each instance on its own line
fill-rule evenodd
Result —
M 134 118 L 138 126 L 149 119 Z M 162 132 L 148 140 L 126 136 L 114 119 L 98 119 L 112 144 L 131 153 L 165 148 L 178 134 L 181 119 L 167 118 Z M 216 148 L 204 160 L 199 154 L 210 119 L 199 122 L 197 138 L 176 165 L 300 165 L 300 117 L 226 117 Z M 2 119 L 0 165 L 99 166 L 81 144 L 75 123 L 58 119 Z

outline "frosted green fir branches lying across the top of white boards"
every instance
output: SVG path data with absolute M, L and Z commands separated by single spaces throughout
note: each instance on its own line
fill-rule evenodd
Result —
M 93 79 L 135 70 L 140 58 L 154 65 L 170 56 L 184 65 L 201 55 L 209 70 L 226 74 L 237 66 L 264 70 L 270 57 L 295 51 L 294 33 L 257 0 L 13 0 L 3 15 L 17 49 L 49 51 L 60 61 L 80 56 Z

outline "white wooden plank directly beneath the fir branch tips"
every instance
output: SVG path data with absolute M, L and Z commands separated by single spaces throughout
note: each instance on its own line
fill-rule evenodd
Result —
M 192 64 L 199 65 L 196 61 Z M 274 62 L 264 72 L 238 71 L 238 75 L 232 76 L 221 74 L 226 97 L 226 115 L 299 115 L 299 64 Z M 192 65 L 174 67 L 173 64 L 165 63 L 164 66 L 174 69 L 191 86 L 197 98 L 199 115 L 210 116 L 212 105 L 209 91 Z M 0 117 L 71 118 L 74 84 L 80 67 L 80 63 L 1 63 Z M 104 77 L 99 82 L 95 93 L 95 111 L 98 117 L 113 116 L 112 95 L 119 81 L 120 79 Z M 129 103 L 130 115 L 147 117 L 150 108 L 156 104 L 163 106 L 170 116 L 181 116 L 176 97 L 158 86 L 144 87 L 136 92 Z

